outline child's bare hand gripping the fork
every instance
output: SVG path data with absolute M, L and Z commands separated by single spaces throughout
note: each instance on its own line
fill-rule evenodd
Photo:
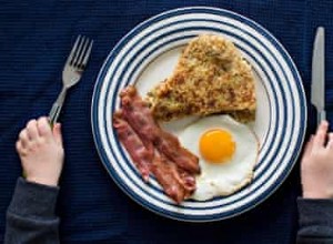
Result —
M 60 124 L 52 131 L 47 118 L 29 121 L 20 132 L 17 151 L 27 181 L 58 185 L 63 164 Z

